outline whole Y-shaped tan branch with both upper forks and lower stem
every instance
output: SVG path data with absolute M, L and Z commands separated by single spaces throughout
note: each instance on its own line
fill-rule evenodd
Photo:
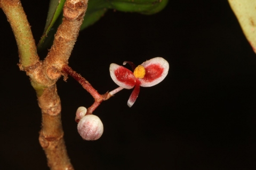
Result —
M 55 82 L 61 76 L 61 66 L 68 63 L 79 28 L 87 8 L 87 0 L 67 0 L 63 22 L 44 62 L 39 61 L 35 41 L 26 14 L 19 0 L 0 0 L 0 7 L 9 20 L 17 40 L 20 68 L 25 70 L 42 109 L 42 130 L 39 141 L 51 169 L 74 169 L 67 155 L 61 125 L 61 105 Z M 21 67 L 22 66 L 22 67 Z

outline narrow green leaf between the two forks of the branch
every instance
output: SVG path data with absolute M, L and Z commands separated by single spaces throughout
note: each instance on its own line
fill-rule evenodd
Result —
M 47 37 L 49 31 L 53 27 L 53 24 L 55 23 L 55 21 L 58 19 L 59 15 L 60 15 L 60 13 L 62 12 L 62 8 L 63 8 L 65 1 L 66 0 L 51 0 L 50 1 L 49 11 L 48 11 L 47 20 L 46 20 L 46 24 L 45 24 L 45 28 L 44 28 L 44 33 L 43 33 L 43 36 L 41 37 L 41 40 L 39 41 L 39 43 L 37 45 L 38 50 L 43 49 L 45 47 L 45 44 L 48 44 L 46 42 L 44 43 L 44 41 L 49 41 L 49 40 L 45 40 L 45 38 Z M 52 31 L 53 30 L 51 30 L 51 32 Z

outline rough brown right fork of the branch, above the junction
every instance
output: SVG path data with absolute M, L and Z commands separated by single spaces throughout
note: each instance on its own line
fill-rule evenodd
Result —
M 55 34 L 53 45 L 45 63 L 61 70 L 63 64 L 68 64 L 68 58 L 73 50 L 79 29 L 87 9 L 87 0 L 67 0 L 63 7 L 63 21 Z

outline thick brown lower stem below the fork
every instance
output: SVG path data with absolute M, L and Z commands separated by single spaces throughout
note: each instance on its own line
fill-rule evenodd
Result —
M 42 129 L 39 142 L 45 151 L 51 169 L 74 169 L 68 158 L 61 125 L 61 105 L 56 85 L 44 90 L 38 97 L 42 109 Z

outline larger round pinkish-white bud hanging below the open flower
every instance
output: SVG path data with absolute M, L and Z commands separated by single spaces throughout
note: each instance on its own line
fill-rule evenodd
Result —
M 103 133 L 103 124 L 98 116 L 85 115 L 79 121 L 77 130 L 84 140 L 97 140 Z

